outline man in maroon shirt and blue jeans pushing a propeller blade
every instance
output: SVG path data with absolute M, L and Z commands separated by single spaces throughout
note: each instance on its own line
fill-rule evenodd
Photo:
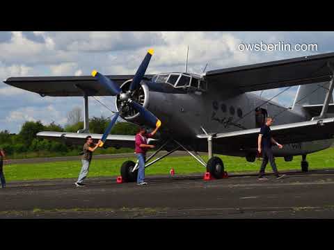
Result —
M 148 144 L 148 138 L 152 138 L 152 136 L 157 133 L 157 128 L 152 131 L 152 133 L 147 133 L 145 126 L 141 126 L 139 132 L 136 134 L 136 145 L 135 152 L 138 158 L 138 177 L 137 177 L 137 185 L 146 185 L 148 183 L 144 182 L 145 178 L 145 161 L 146 161 L 146 151 L 148 149 L 154 149 L 154 145 Z

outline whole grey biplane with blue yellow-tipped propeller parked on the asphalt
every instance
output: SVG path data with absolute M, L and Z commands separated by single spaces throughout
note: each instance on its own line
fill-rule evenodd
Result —
M 286 161 L 302 156 L 301 169 L 305 172 L 308 153 L 331 147 L 334 53 L 217 69 L 202 75 L 145 75 L 152 54 L 150 49 L 134 75 L 104 76 L 93 71 L 92 76 L 10 77 L 4 82 L 42 97 L 84 97 L 84 129 L 78 133 L 44 131 L 38 133 L 40 138 L 83 144 L 84 138 L 92 135 L 95 140 L 102 139 L 103 147 L 134 148 L 133 135 L 109 135 L 118 116 L 138 125 L 161 126 L 157 138 L 149 141 L 157 151 L 145 167 L 182 150 L 212 176 L 221 178 L 224 165 L 213 153 L 253 162 L 259 127 L 267 116 L 274 118 L 273 137 L 285 144 L 283 149 L 273 147 L 274 155 Z M 299 85 L 299 90 L 290 108 L 250 93 L 294 85 Z M 104 135 L 89 133 L 89 96 L 116 97 L 117 113 Z M 153 160 L 161 149 L 167 153 Z M 208 152 L 209 160 L 205 162 L 198 152 Z M 135 181 L 137 172 L 132 161 L 121 167 L 125 181 Z

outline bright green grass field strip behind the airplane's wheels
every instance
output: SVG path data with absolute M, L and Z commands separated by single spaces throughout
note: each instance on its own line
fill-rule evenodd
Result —
M 333 158 L 334 148 L 331 147 L 318 153 L 308 155 L 309 169 L 334 168 Z M 220 156 L 228 172 L 257 172 L 261 161 L 255 160 L 248 163 L 245 158 Z M 207 157 L 204 157 L 207 160 Z M 90 165 L 88 177 L 93 176 L 118 176 L 120 175 L 120 165 L 125 160 L 135 160 L 135 158 L 118 158 L 110 160 L 93 160 Z M 292 162 L 285 162 L 283 158 L 276 158 L 279 170 L 301 169 L 301 156 L 295 156 Z M 146 174 L 168 174 L 170 169 L 175 169 L 175 174 L 204 173 L 205 168 L 190 156 L 173 157 L 168 156 L 146 169 Z M 77 178 L 81 169 L 81 162 L 68 161 L 57 163 L 38 164 L 9 164 L 3 167 L 6 181 L 21 181 L 47 178 Z M 267 172 L 271 172 L 270 165 Z

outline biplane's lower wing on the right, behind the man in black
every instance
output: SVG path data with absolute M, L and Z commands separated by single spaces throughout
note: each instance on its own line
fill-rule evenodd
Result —
M 214 141 L 217 140 L 219 144 L 228 144 L 229 147 L 238 149 L 256 148 L 259 133 L 260 128 L 218 133 Z M 331 139 L 334 136 L 334 118 L 271 126 L 271 135 L 280 144 Z M 207 138 L 208 136 L 202 134 L 197 137 Z

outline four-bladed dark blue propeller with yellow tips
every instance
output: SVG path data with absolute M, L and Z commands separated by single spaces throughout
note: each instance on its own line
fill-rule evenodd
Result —
M 104 76 L 103 74 L 97 72 L 96 70 L 93 70 L 92 76 L 97 79 L 97 82 L 106 88 L 109 93 L 112 96 L 116 96 L 120 94 L 120 99 L 122 100 L 122 106 L 127 106 L 126 103 L 129 103 L 135 110 L 138 111 L 138 113 L 141 114 L 141 117 L 147 122 L 150 126 L 161 126 L 160 120 L 155 117 L 149 110 L 141 106 L 140 104 L 136 103 L 136 101 L 132 100 L 132 93 L 138 88 L 140 88 L 140 83 L 143 80 L 143 76 L 145 75 L 146 69 L 148 68 L 148 64 L 150 63 L 150 60 L 152 58 L 152 55 L 154 53 L 153 49 L 149 49 L 148 53 L 146 54 L 145 58 L 141 62 L 141 65 L 139 65 L 136 74 L 134 75 L 134 78 L 132 79 L 132 83 L 129 87 L 129 91 L 127 93 L 122 92 L 120 87 L 111 81 L 108 77 Z M 116 115 L 111 120 L 108 128 L 106 128 L 106 131 L 104 131 L 104 134 L 102 135 L 100 147 L 104 145 L 104 142 L 106 141 L 106 138 L 108 137 L 111 129 L 116 124 L 116 120 L 118 119 L 119 113 L 116 113 Z

